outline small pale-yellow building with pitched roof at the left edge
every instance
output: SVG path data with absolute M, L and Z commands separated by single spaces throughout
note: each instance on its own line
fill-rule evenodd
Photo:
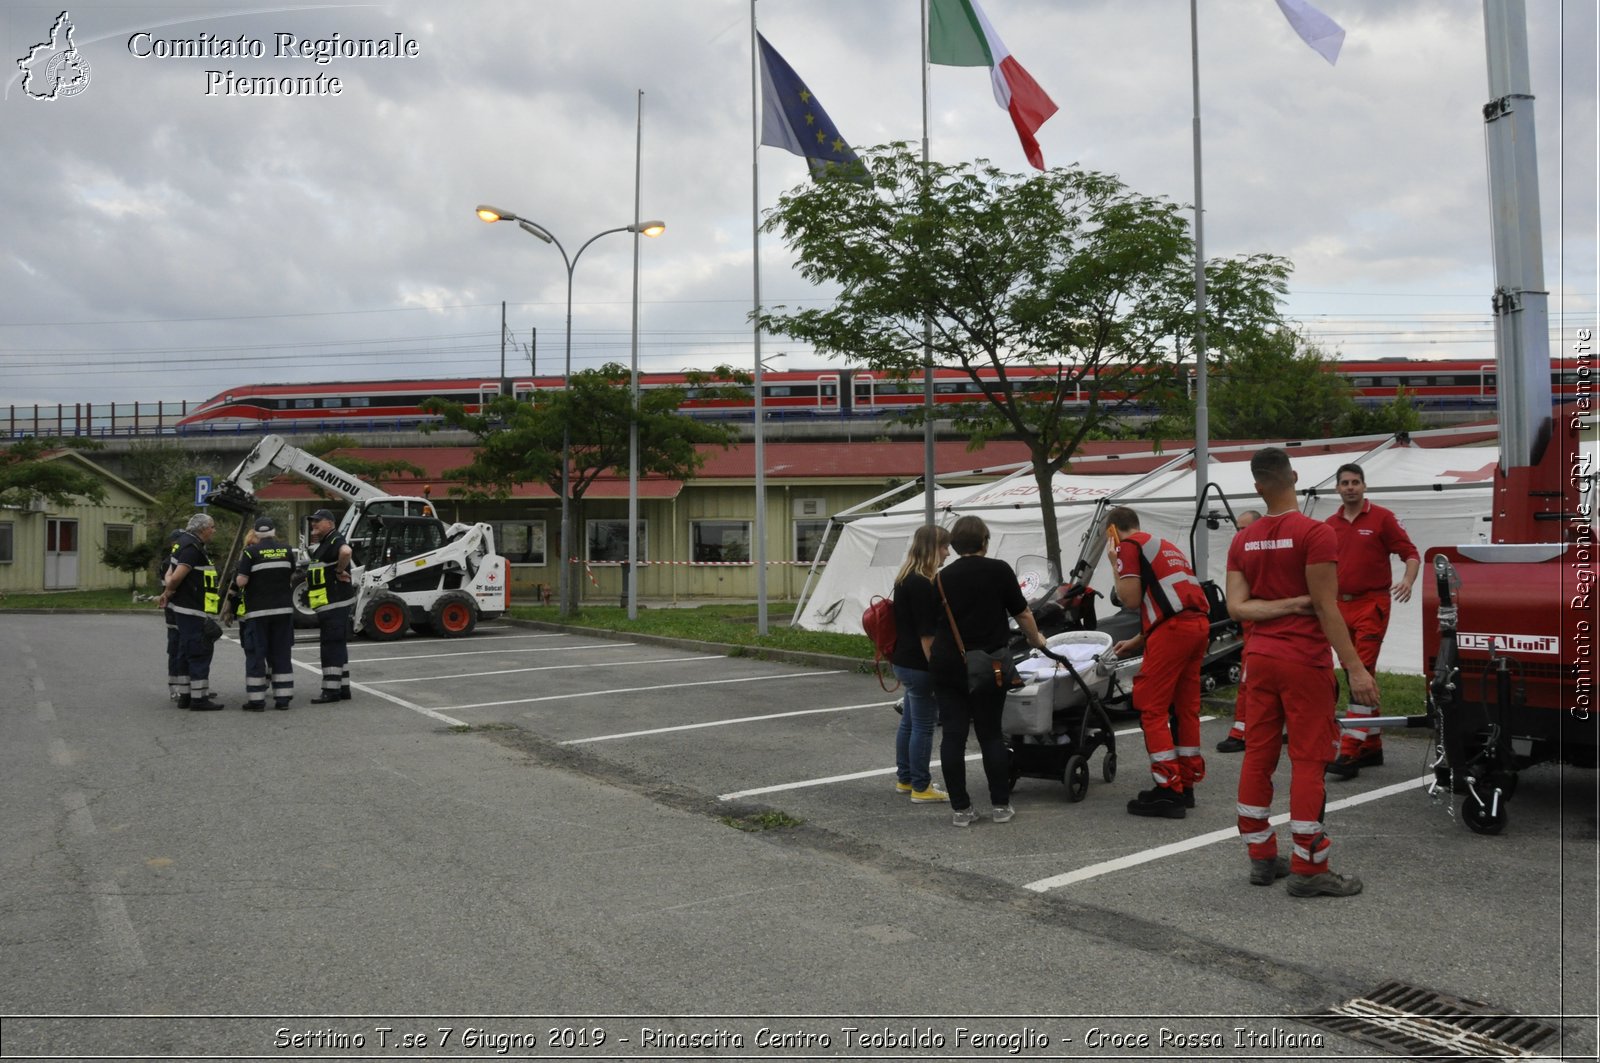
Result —
M 107 472 L 75 450 L 42 461 L 72 461 L 106 485 L 106 501 L 56 506 L 35 496 L 0 507 L 0 592 L 102 591 L 130 576 L 104 562 L 106 546 L 133 546 L 146 536 L 155 498 Z

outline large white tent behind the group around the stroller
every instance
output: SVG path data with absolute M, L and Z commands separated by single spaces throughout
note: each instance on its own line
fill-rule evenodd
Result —
M 1248 458 L 1254 447 L 1235 450 L 1237 455 L 1227 456 Z M 1309 453 L 1310 450 L 1323 448 L 1294 447 L 1290 448 L 1290 456 L 1299 477 L 1302 509 L 1312 517 L 1325 519 L 1339 507 L 1339 496 L 1333 490 L 1334 472 L 1346 461 L 1358 461 L 1366 472 L 1366 496 L 1395 511 L 1422 554 L 1434 546 L 1483 541 L 1482 536 L 1490 530 L 1491 472 L 1499 459 L 1498 447 L 1427 450 L 1384 443 L 1366 451 Z M 1222 451 L 1214 451 L 1213 458 L 1219 453 Z M 1226 498 L 1234 512 L 1261 509 L 1248 459 L 1213 459 L 1208 469 L 1211 482 L 1206 496 L 1208 511 L 1222 511 L 1218 495 Z M 1101 501 L 1131 506 L 1138 511 L 1146 532 L 1171 540 L 1186 552 L 1192 552 L 1195 474 L 1192 463 L 1182 456 L 1168 463 L 1168 467 L 1146 475 L 1059 474 L 1053 495 L 1062 564 L 1067 568 L 1078 557 Z M 1038 488 L 1027 469 L 979 487 L 938 488 L 934 507 L 944 527 L 965 514 L 982 517 L 992 535 L 989 556 L 1011 562 L 1013 567 L 1026 554 L 1045 552 Z M 918 495 L 880 512 L 840 514 L 837 520 L 843 523 L 838 543 L 816 589 L 800 604 L 797 623 L 813 631 L 859 632 L 861 613 L 872 597 L 888 597 L 893 591 L 894 572 L 906 557 L 912 533 L 923 522 L 923 498 Z M 1210 536 L 1206 575 L 1222 584 L 1227 546 L 1234 536 L 1232 523 L 1222 520 L 1219 528 L 1210 530 L 1202 522 L 1195 535 Z M 1102 541 L 1093 544 L 1091 557 L 1096 568 L 1090 584 L 1106 591 L 1112 580 Z M 1400 562 L 1395 560 L 1395 575 L 1400 570 Z M 1422 671 L 1422 580 L 1426 578 L 1429 576 L 1424 570 L 1410 602 L 1395 602 L 1378 664 L 1382 671 L 1413 674 Z

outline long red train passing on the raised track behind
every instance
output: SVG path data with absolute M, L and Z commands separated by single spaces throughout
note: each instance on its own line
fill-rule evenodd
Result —
M 1494 407 L 1493 362 L 1338 362 L 1331 371 L 1346 376 L 1362 402 L 1389 402 L 1395 389 L 1405 387 L 1424 408 Z M 1576 397 L 1579 384 L 1576 359 L 1558 362 L 1550 373 L 1550 391 L 1557 402 Z M 1050 368 L 1014 368 L 1013 381 L 1053 376 Z M 560 376 L 510 378 L 515 395 L 558 391 Z M 685 387 L 688 397 L 682 410 L 701 416 L 747 418 L 754 407 L 754 389 L 746 399 L 710 399 L 686 387 L 682 373 L 642 373 L 640 387 Z M 958 370 L 934 371 L 938 405 L 981 400 L 979 386 Z M 1594 394 L 1594 381 L 1587 381 Z M 259 427 L 317 424 L 336 429 L 339 424 L 360 426 L 366 421 L 427 419 L 422 402 L 430 397 L 459 402 L 477 410 L 501 391 L 501 381 L 482 376 L 435 379 L 350 381 L 333 384 L 245 384 L 214 395 L 182 421 L 182 429 Z M 1082 397 L 1082 395 L 1080 395 Z M 893 413 L 923 402 L 922 379 L 899 381 L 870 370 L 789 370 L 762 375 L 762 405 L 774 416 L 874 416 Z

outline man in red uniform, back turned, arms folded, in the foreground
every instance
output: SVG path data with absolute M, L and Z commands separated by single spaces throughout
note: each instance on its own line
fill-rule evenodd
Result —
M 1250 459 L 1267 514 L 1234 536 L 1227 551 L 1227 612 L 1251 621 L 1245 647 L 1250 676 L 1245 762 L 1238 775 L 1238 832 L 1250 847 L 1250 882 L 1272 885 L 1290 876 L 1291 897 L 1352 897 L 1362 880 L 1328 869 L 1323 768 L 1339 746 L 1333 706 L 1339 680 L 1331 645 L 1350 680 L 1350 695 L 1378 706 L 1378 684 L 1362 664 L 1339 616 L 1333 528 L 1304 515 L 1294 499 L 1294 469 L 1278 447 Z M 1272 773 L 1288 725 L 1290 834 L 1294 855 L 1278 856 Z

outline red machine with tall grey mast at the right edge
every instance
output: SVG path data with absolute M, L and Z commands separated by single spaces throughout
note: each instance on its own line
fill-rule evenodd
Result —
M 1491 541 L 1427 554 L 1422 652 L 1432 789 L 1461 794 L 1466 824 L 1498 834 L 1520 768 L 1595 767 L 1595 471 L 1582 450 L 1595 418 L 1582 389 L 1552 416 L 1523 3 L 1485 0 L 1483 16 L 1501 459 Z M 1578 341 L 1592 383 L 1589 330 Z

